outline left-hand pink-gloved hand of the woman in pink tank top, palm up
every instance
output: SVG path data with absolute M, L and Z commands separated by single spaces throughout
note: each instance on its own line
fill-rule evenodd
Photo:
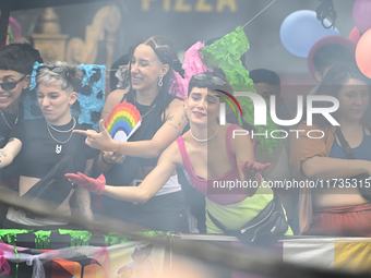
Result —
M 98 177 L 98 179 L 88 178 L 81 172 L 65 173 L 64 177 L 69 179 L 70 182 L 87 189 L 91 192 L 95 192 L 98 195 L 101 195 L 105 191 L 106 178 L 103 173 Z

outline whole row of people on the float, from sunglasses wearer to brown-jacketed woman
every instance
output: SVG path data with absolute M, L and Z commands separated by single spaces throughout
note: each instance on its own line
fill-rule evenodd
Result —
M 106 96 L 99 131 L 79 124 L 79 113 L 71 112 L 84 73 L 62 61 L 35 68 L 44 117 L 25 119 L 23 99 L 34 63 L 43 60 L 27 44 L 1 47 L 1 186 L 31 201 L 47 201 L 56 215 L 79 214 L 88 220 L 97 213 L 92 196 L 101 195 L 99 214 L 183 233 L 241 230 L 278 196 L 289 223 L 285 234 L 369 235 L 371 194 L 358 185 L 371 182 L 371 83 L 349 50 L 330 44 L 316 52 L 313 63 L 321 84 L 311 94 L 338 100 L 333 117 L 339 125 L 321 114 L 314 116 L 313 125 L 302 119 L 297 130 L 319 130 L 324 136 L 302 132 L 270 154 L 251 136 L 235 136 L 254 129 L 243 119 L 227 117 L 226 124 L 219 123 L 225 101 L 219 93 L 234 95 L 223 69 L 194 73 L 185 98 L 178 97 L 175 75 L 182 72 L 165 37 L 146 37 L 119 60 L 119 80 L 110 75 L 117 88 Z M 275 72 L 252 70 L 250 77 L 268 106 L 270 96 L 276 97 L 279 119 L 294 119 Z M 105 128 L 121 102 L 136 107 L 142 118 L 128 142 L 115 141 Z M 299 191 L 263 186 L 290 179 L 347 183 Z M 214 188 L 230 181 L 258 186 Z M 0 210 L 3 229 L 82 228 L 4 204 Z

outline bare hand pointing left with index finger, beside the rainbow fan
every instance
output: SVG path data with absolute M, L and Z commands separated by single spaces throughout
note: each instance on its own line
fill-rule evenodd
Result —
M 101 150 L 111 150 L 115 152 L 118 149 L 118 143 L 112 140 L 111 135 L 108 133 L 108 131 L 105 128 L 104 120 L 101 119 L 99 121 L 99 133 L 95 130 L 74 130 L 73 132 L 85 135 L 86 145 Z

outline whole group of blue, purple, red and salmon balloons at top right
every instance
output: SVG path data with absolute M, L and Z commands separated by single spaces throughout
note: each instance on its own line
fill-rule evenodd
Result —
M 355 56 L 358 68 L 371 78 L 371 0 L 355 1 L 352 20 L 356 26 L 348 38 L 357 45 Z M 323 25 L 331 26 L 332 23 L 324 19 L 322 24 L 314 11 L 296 11 L 284 20 L 279 31 L 280 40 L 290 53 L 303 58 L 310 58 L 309 56 L 312 56 L 311 52 L 313 52 L 311 49 L 314 46 L 318 49 L 319 46 L 326 43 L 322 39 L 330 36 L 333 37 L 330 40 L 339 41 L 327 43 L 340 44 L 351 50 L 350 41 L 345 41 L 346 38 L 334 39 L 334 36 L 339 36 L 339 32 L 335 27 L 326 29 Z M 308 59 L 308 62 L 310 71 L 313 71 L 311 59 Z

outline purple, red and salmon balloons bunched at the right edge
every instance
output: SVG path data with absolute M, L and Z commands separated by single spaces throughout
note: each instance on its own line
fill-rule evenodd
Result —
M 357 44 L 357 65 L 371 78 L 371 0 L 356 0 L 352 20 L 356 27 L 350 32 L 349 39 Z

